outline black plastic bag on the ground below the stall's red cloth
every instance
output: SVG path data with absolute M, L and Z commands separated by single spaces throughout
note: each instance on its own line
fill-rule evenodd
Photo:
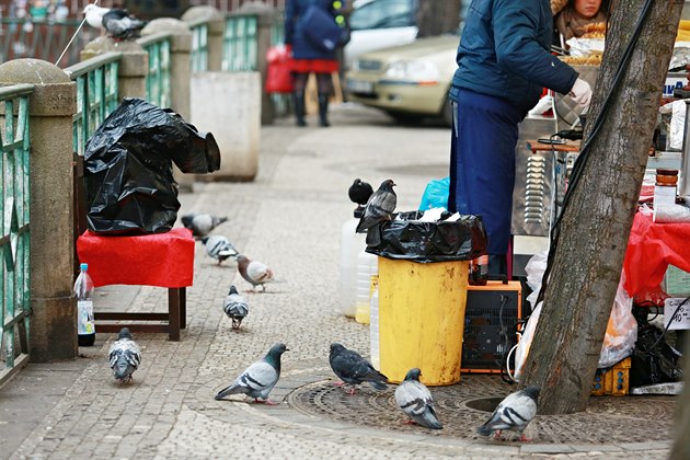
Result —
M 664 332 L 649 324 L 646 318 L 635 315 L 637 320 L 637 342 L 633 348 L 630 365 L 630 386 L 676 382 L 682 379 L 680 357 L 662 335 Z

